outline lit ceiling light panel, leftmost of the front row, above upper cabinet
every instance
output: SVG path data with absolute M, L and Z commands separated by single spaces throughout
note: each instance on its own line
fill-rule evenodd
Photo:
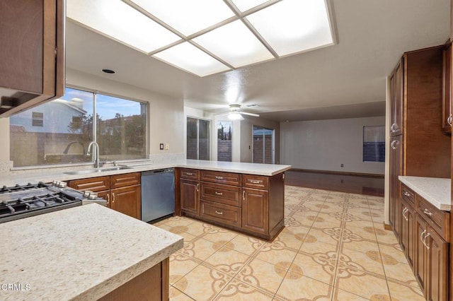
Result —
M 67 16 L 142 52 L 180 40 L 144 14 L 120 0 L 67 0 Z

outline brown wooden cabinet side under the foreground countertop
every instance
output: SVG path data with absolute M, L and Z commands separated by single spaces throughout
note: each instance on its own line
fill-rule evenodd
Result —
M 102 301 L 149 300 L 168 301 L 169 260 L 159 262 L 139 276 L 101 297 Z

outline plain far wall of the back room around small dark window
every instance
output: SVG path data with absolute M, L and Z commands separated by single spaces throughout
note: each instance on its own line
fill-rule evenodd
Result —
M 282 122 L 280 163 L 306 170 L 384 175 L 385 163 L 362 162 L 362 143 L 363 126 L 385 122 L 384 116 Z

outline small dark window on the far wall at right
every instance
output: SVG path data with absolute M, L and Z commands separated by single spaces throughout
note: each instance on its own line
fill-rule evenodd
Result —
M 363 127 L 363 162 L 385 162 L 385 126 Z

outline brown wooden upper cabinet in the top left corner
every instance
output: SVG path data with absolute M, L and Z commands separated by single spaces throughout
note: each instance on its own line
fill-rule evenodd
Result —
M 65 1 L 0 1 L 0 117 L 64 95 Z

